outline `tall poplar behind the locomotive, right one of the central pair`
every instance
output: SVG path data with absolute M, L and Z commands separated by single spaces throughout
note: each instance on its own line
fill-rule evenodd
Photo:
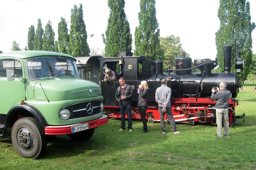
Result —
M 161 59 L 160 50 L 160 29 L 156 19 L 156 1 L 140 0 L 139 26 L 135 28 L 135 48 L 134 55 L 145 55 L 155 59 Z

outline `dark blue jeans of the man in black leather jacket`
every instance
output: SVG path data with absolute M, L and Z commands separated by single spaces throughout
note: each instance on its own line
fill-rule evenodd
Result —
M 127 103 L 125 104 L 124 102 L 120 103 L 120 114 L 121 114 L 121 128 L 125 129 L 125 110 L 127 113 L 127 118 L 128 118 L 128 129 L 132 129 L 132 103 Z

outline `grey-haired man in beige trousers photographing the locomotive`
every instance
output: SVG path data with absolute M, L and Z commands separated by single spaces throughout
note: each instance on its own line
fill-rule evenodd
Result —
M 221 82 L 220 88 L 217 87 L 217 93 L 214 94 L 212 88 L 212 100 L 216 100 L 216 123 L 217 123 L 217 136 L 214 137 L 229 137 L 229 121 L 228 121 L 228 100 L 230 97 L 230 91 L 226 89 L 227 83 Z M 222 119 L 224 124 L 224 135 L 222 135 Z

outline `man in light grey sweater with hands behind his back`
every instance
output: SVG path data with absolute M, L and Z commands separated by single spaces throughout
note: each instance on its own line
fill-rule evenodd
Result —
M 156 102 L 158 103 L 158 111 L 160 115 L 160 122 L 162 126 L 162 133 L 166 133 L 165 124 L 164 124 L 164 116 L 165 113 L 167 118 L 170 121 L 172 131 L 174 134 L 179 134 L 180 132 L 176 129 L 176 124 L 172 115 L 172 107 L 171 107 L 171 88 L 167 86 L 167 80 L 163 78 L 161 80 L 161 87 L 156 89 Z

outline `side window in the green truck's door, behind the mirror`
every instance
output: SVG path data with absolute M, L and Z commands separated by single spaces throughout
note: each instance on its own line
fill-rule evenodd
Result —
M 19 77 L 22 77 L 23 75 L 21 63 L 18 60 L 11 60 L 11 59 L 0 60 L 0 77 L 7 77 L 6 75 L 7 69 L 14 70 L 14 74 L 16 74 Z

